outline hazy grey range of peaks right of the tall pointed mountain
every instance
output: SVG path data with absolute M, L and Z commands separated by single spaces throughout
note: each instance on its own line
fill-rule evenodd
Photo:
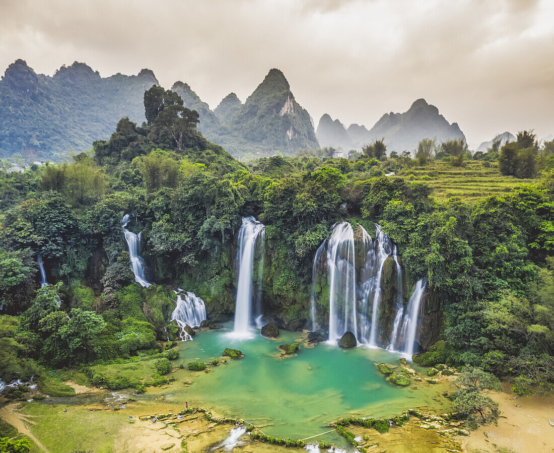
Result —
M 458 124 L 448 123 L 439 110 L 424 99 L 415 101 L 405 113 L 384 114 L 370 130 L 363 125 L 351 124 L 343 134 L 341 128 L 344 130 L 340 121 L 332 121 L 329 115 L 322 116 L 317 127 L 321 146 L 342 146 L 343 149 L 350 146 L 359 150 L 374 140 L 384 139 L 387 152 L 402 152 L 417 149 L 419 141 L 427 138 L 436 138 L 438 143 L 451 139 L 465 141 Z

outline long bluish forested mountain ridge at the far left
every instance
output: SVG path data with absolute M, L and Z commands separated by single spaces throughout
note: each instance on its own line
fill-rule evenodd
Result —
M 141 124 L 144 91 L 157 84 L 149 69 L 102 78 L 75 62 L 50 77 L 17 60 L 0 80 L 0 156 L 61 160 L 89 150 L 122 117 Z

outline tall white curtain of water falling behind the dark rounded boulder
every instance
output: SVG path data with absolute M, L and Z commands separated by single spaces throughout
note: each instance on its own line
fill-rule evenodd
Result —
M 329 341 L 350 330 L 356 337 L 356 267 L 350 222 L 335 225 L 327 242 L 329 272 Z

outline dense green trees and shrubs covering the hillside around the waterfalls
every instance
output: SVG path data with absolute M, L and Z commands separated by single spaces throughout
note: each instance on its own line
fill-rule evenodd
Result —
M 212 319 L 232 313 L 233 237 L 241 216 L 255 215 L 266 225 L 264 308 L 285 325 L 307 318 L 312 259 L 332 225 L 379 222 L 409 280 L 426 277 L 440 300 L 443 340 L 422 355 L 426 364 L 483 367 L 519 393 L 552 388 L 550 145 L 532 154 L 538 179 L 518 185 L 506 176 L 505 191 L 434 197 L 425 169 L 429 182 L 441 167 L 502 170 L 515 145 L 471 156 L 460 142 L 429 140 L 412 159 L 374 142 L 351 159 L 312 156 L 330 154 L 318 150 L 243 165 L 197 131 L 198 114 L 175 93 L 153 87 L 144 104 L 147 123 L 121 119 L 109 140 L 71 163 L 2 173 L 0 379 L 66 367 L 112 388 L 161 383 L 171 357 L 157 340 L 173 308 L 170 288 L 194 291 Z M 142 255 L 160 286 L 134 283 L 125 213 L 136 215 L 129 227 L 143 231 Z M 118 360 L 147 362 L 148 379 L 111 375 Z

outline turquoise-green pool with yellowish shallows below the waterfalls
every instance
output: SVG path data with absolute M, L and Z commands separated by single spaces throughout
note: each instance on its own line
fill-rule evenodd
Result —
M 327 431 L 329 423 L 345 415 L 392 416 L 409 407 L 439 404 L 438 388 L 413 390 L 389 384 L 374 363 L 397 364 L 399 356 L 384 350 L 301 344 L 297 355 L 280 358 L 276 347 L 301 340 L 301 334 L 281 332 L 276 342 L 261 337 L 259 331 L 250 340 L 230 339 L 229 332 L 228 328 L 207 330 L 193 341 L 179 343 L 181 359 L 175 362 L 185 367 L 193 361 L 208 362 L 220 357 L 226 347 L 242 350 L 244 358 L 210 365 L 209 373 L 179 370 L 170 389 L 149 389 L 143 397 L 163 394 L 166 403 L 188 401 L 189 406 L 242 418 L 265 434 L 291 439 Z M 183 380 L 193 383 L 185 386 Z

